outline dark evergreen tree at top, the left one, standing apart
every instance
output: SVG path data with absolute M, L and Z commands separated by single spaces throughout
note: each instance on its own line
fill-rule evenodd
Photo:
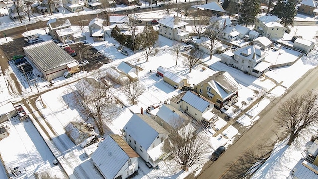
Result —
M 259 0 L 244 0 L 240 6 L 239 24 L 253 24 L 260 10 Z

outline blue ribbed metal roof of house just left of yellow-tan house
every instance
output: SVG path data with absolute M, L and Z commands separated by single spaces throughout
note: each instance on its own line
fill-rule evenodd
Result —
M 204 112 L 211 104 L 208 99 L 205 97 L 193 92 L 193 91 L 187 91 L 185 95 L 182 97 L 182 100 L 192 107 L 196 108 L 200 112 Z

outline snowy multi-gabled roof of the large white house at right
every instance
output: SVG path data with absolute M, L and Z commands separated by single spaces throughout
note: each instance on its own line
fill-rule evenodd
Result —
M 249 45 L 243 48 L 240 48 L 233 52 L 235 55 L 240 57 L 244 57 L 245 59 L 249 59 L 254 62 L 261 61 L 267 53 L 261 51 L 260 49 L 256 48 L 254 45 Z

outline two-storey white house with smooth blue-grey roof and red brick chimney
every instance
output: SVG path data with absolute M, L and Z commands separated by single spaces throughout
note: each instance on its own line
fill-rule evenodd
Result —
M 165 155 L 163 144 L 169 132 L 148 115 L 133 114 L 124 126 L 123 139 L 150 167 L 156 167 Z

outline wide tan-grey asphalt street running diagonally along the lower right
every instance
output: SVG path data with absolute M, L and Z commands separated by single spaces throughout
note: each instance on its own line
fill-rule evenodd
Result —
M 187 179 L 242 178 L 246 169 L 250 167 L 249 163 L 253 161 L 251 158 L 261 156 L 265 152 L 262 149 L 271 146 L 283 132 L 273 121 L 279 102 L 285 101 L 295 93 L 302 94 L 307 90 L 318 89 L 317 74 L 318 68 L 307 72 L 294 83 L 287 94 L 274 99 L 270 106 L 261 112 L 258 122 L 227 149 L 216 162 L 208 162 L 198 176 L 190 175 Z

